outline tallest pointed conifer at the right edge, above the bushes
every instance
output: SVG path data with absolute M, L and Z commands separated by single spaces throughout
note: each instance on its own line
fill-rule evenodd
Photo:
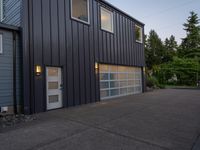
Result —
M 195 12 L 190 12 L 187 23 L 184 23 L 186 38 L 182 39 L 179 56 L 185 58 L 200 57 L 200 26 Z

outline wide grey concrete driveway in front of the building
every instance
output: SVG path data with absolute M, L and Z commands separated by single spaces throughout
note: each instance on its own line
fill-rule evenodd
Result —
M 50 111 L 0 132 L 1 150 L 200 150 L 200 91 L 158 90 Z

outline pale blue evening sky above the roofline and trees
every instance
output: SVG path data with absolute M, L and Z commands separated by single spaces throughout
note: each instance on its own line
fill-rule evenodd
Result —
M 145 23 L 145 34 L 156 30 L 162 40 L 174 35 L 180 43 L 185 37 L 183 23 L 190 11 L 200 18 L 200 0 L 107 0 Z

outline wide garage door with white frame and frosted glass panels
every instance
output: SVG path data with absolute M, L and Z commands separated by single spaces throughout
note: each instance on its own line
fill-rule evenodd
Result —
M 101 99 L 142 93 L 142 69 L 100 65 Z

